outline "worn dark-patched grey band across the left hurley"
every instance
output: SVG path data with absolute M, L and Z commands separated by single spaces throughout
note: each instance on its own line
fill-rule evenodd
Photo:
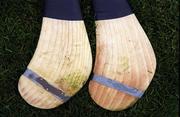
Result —
M 33 81 L 34 83 L 36 83 L 37 85 L 43 87 L 46 91 L 53 94 L 56 98 L 63 100 L 63 102 L 66 102 L 67 100 L 69 100 L 70 97 L 66 96 L 63 91 L 49 84 L 45 79 L 43 79 L 41 76 L 39 76 L 32 70 L 27 69 L 23 75 L 27 77 L 28 79 L 30 79 L 31 81 Z

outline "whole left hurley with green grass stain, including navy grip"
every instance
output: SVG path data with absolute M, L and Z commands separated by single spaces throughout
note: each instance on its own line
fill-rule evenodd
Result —
M 66 102 L 87 81 L 91 49 L 78 0 L 46 0 L 35 54 L 19 80 L 24 100 L 50 109 Z

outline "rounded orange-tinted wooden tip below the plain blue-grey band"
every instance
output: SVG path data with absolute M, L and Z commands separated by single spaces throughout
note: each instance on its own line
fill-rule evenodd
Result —
M 99 89 L 103 88 L 104 92 L 97 91 L 97 87 Z M 89 93 L 97 105 L 110 111 L 121 111 L 127 109 L 133 106 L 137 101 L 136 97 L 108 88 L 95 81 L 90 81 Z M 99 96 L 99 93 L 101 93 L 101 96 Z

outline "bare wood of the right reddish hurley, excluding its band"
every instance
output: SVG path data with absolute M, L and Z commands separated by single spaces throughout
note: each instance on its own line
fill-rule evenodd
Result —
M 97 50 L 94 74 L 106 76 L 145 91 L 156 68 L 153 48 L 134 14 L 96 21 Z M 137 98 L 100 85 L 89 84 L 92 99 L 101 107 L 119 111 L 133 105 Z

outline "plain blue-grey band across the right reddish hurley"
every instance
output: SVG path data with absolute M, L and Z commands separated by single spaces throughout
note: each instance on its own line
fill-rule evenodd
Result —
M 124 85 L 124 84 L 122 84 L 120 82 L 117 82 L 115 80 L 111 80 L 111 79 L 106 78 L 104 76 L 94 75 L 92 80 L 94 80 L 94 81 L 96 81 L 96 82 L 98 82 L 98 83 L 100 83 L 102 85 L 105 85 L 107 87 L 116 89 L 118 91 L 124 92 L 126 94 L 131 95 L 131 96 L 134 96 L 134 97 L 141 98 L 143 93 L 144 93 L 142 91 L 139 91 L 136 88 L 129 87 L 127 85 Z

